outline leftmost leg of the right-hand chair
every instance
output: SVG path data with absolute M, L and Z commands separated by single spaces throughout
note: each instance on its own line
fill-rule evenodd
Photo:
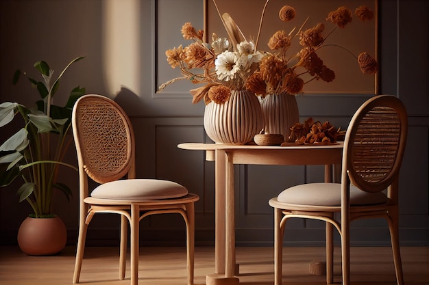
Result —
M 274 285 L 282 285 L 283 231 L 282 210 L 274 208 Z

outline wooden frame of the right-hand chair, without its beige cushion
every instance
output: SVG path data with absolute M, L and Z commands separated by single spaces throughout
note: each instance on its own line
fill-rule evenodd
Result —
M 370 116 L 367 118 L 367 116 Z M 390 122 L 384 123 L 383 118 L 393 116 L 397 124 L 390 125 Z M 390 120 L 390 119 L 389 119 Z M 371 126 L 369 126 L 371 124 Z M 395 129 L 397 127 L 397 129 Z M 372 133 L 365 133 L 365 128 L 370 128 Z M 362 165 L 365 157 L 368 163 L 376 161 L 376 157 L 371 157 L 364 151 L 371 151 L 371 147 L 364 145 L 363 136 L 368 135 L 377 137 L 384 135 L 384 131 L 394 130 L 397 133 L 391 133 L 392 142 L 390 152 L 393 152 L 395 159 L 390 165 L 386 166 L 385 171 L 377 175 L 376 178 L 367 178 Z M 364 135 L 362 135 L 364 133 Z M 388 133 L 388 132 L 387 132 Z M 402 264 L 400 257 L 399 243 L 399 211 L 398 211 L 398 176 L 402 157 L 404 155 L 407 135 L 407 115 L 402 102 L 395 96 L 380 95 L 367 100 L 354 114 L 344 141 L 343 163 L 341 170 L 341 206 L 309 206 L 300 204 L 286 204 L 279 202 L 277 198 L 269 201 L 274 208 L 274 260 L 275 260 L 275 285 L 282 284 L 282 247 L 284 229 L 287 219 L 305 218 L 317 219 L 326 222 L 326 282 L 333 283 L 333 237 L 332 227 L 338 230 L 341 236 L 342 253 L 342 275 L 343 284 L 350 284 L 350 222 L 356 219 L 378 218 L 387 219 L 389 223 L 389 232 L 391 235 L 391 246 L 393 250 L 393 259 L 395 263 L 395 272 L 398 285 L 404 284 L 402 274 Z M 360 136 L 360 137 L 359 137 Z M 367 144 L 367 143 L 365 143 Z M 387 142 L 386 144 L 390 144 Z M 381 148 L 384 146 L 380 145 Z M 360 149 L 360 147 L 362 149 Z M 374 147 L 378 147 L 374 145 Z M 390 147 L 389 147 L 390 148 Z M 375 152 L 379 152 L 377 149 Z M 369 153 L 369 152 L 368 152 Z M 368 169 L 377 166 L 370 165 Z M 366 171 L 366 170 L 365 170 Z M 387 189 L 387 203 L 374 204 L 366 206 L 350 205 L 350 184 L 367 192 L 379 192 Z M 335 219 L 335 213 L 340 213 L 341 221 Z

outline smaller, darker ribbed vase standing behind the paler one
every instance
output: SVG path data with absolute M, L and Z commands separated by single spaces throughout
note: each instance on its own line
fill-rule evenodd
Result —
M 289 94 L 270 94 L 261 102 L 265 133 L 282 134 L 287 140 L 291 126 L 299 122 L 297 99 Z

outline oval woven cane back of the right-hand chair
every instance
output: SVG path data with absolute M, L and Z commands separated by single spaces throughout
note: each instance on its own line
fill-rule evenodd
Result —
M 383 191 L 397 178 L 406 133 L 406 109 L 398 98 L 376 96 L 367 100 L 347 128 L 343 173 L 364 191 Z

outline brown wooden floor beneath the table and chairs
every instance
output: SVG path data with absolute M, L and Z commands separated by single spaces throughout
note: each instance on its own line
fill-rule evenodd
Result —
M 273 284 L 273 249 L 237 247 L 240 284 Z M 82 266 L 82 284 L 122 285 L 117 280 L 118 254 L 114 247 L 88 247 Z M 402 247 L 402 266 L 406 285 L 429 284 L 429 247 Z M 26 256 L 18 247 L 0 247 L 0 284 L 63 285 L 72 284 L 75 248 L 66 247 L 56 256 Z M 196 247 L 195 284 L 205 284 L 214 273 L 214 248 Z M 323 260 L 323 247 L 284 248 L 283 284 L 322 285 L 325 276 L 310 275 L 312 260 Z M 335 284 L 341 284 L 339 249 L 335 252 Z M 394 285 L 395 270 L 390 247 L 352 247 L 352 285 Z M 186 252 L 180 247 L 142 247 L 139 285 L 186 284 Z M 129 269 L 129 268 L 128 268 Z

